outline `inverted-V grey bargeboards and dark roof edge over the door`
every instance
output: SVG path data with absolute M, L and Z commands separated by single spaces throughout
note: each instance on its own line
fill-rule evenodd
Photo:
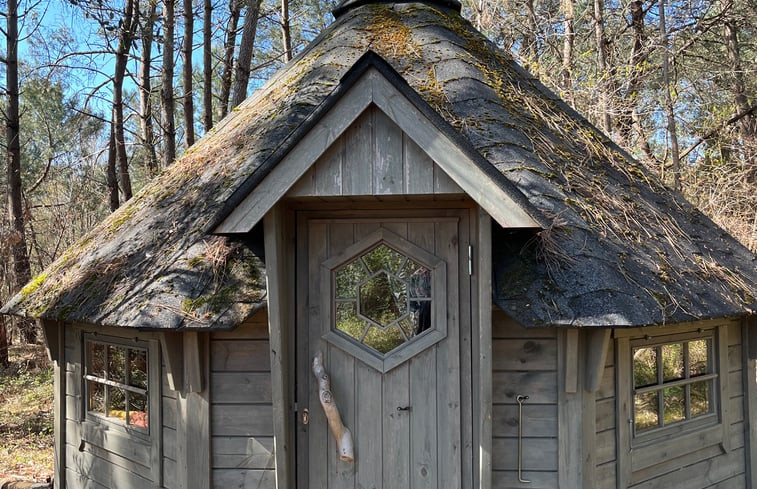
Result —
M 213 232 L 225 235 L 250 232 L 371 105 L 397 124 L 500 226 L 544 227 L 546 219 L 525 196 L 386 61 L 369 51 L 284 142 L 282 150 L 232 195 L 227 213 Z

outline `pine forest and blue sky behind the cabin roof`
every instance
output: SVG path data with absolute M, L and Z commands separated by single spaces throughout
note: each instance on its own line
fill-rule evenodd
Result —
M 0 305 L 301 51 L 334 4 L 0 0 Z M 757 251 L 756 0 L 463 0 L 463 15 Z M 38 340 L 0 316 L 0 369 L 9 344 Z

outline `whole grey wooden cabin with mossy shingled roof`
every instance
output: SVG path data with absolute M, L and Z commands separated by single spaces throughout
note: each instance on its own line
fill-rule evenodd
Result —
M 6 305 L 57 488 L 752 487 L 755 255 L 459 8 L 347 0 Z

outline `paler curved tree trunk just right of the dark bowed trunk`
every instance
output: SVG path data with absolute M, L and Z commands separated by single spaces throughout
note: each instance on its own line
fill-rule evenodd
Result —
M 155 28 L 157 0 L 150 0 L 142 28 L 142 56 L 140 58 L 139 117 L 142 129 L 142 145 L 147 153 L 147 172 L 150 177 L 158 174 L 158 155 L 155 152 L 155 130 L 152 124 L 152 41 Z

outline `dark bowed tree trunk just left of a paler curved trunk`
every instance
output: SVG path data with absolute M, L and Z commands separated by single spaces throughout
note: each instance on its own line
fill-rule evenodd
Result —
M 123 84 L 126 75 L 126 64 L 129 61 L 129 51 L 134 40 L 134 29 L 137 25 L 135 0 L 126 0 L 124 18 L 119 33 L 118 49 L 116 51 L 116 66 L 113 75 L 113 115 L 116 123 L 115 141 L 116 157 L 118 158 L 118 179 L 124 201 L 131 199 L 131 178 L 129 177 L 129 161 L 126 155 L 126 138 L 124 136 L 124 103 Z

